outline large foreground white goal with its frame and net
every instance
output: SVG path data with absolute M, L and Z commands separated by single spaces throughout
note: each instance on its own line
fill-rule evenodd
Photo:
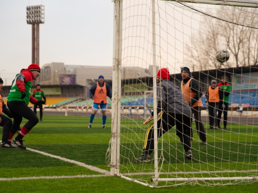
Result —
M 257 182 L 258 9 L 203 2 L 114 0 L 112 132 L 106 156 L 112 175 L 154 187 Z M 164 131 L 162 125 L 157 128 L 162 116 L 155 115 L 157 72 L 166 68 L 170 82 L 181 88 L 183 67 L 199 85 L 195 94 L 202 92 L 200 122 L 192 117 L 192 160 L 185 160 L 175 126 L 159 139 L 155 134 Z M 223 104 L 209 115 L 207 91 L 223 76 L 230 94 L 225 98 L 222 92 Z M 143 125 L 153 110 L 154 122 Z M 206 145 L 197 132 L 201 123 Z M 144 153 L 150 129 L 150 161 L 134 161 Z

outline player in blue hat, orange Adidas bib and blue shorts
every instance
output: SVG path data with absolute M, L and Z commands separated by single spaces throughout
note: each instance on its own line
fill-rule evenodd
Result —
M 90 123 L 88 125 L 88 128 L 91 128 L 94 116 L 97 113 L 99 106 L 102 111 L 102 128 L 106 128 L 105 123 L 107 119 L 107 96 L 112 100 L 112 92 L 110 91 L 109 85 L 104 82 L 104 76 L 99 76 L 99 81 L 97 83 L 94 83 L 90 88 L 89 95 L 90 98 L 93 99 L 93 111 L 90 115 Z

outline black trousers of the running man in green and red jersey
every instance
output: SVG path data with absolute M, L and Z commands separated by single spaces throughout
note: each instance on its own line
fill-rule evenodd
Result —
M 26 129 L 29 131 L 37 125 L 39 122 L 39 118 L 35 113 L 25 104 L 23 101 L 7 101 L 7 106 L 12 112 L 13 116 L 13 124 L 10 128 L 11 133 L 15 133 L 17 129 L 20 128 L 20 124 L 22 122 L 22 117 L 28 119 L 29 121 L 24 125 Z

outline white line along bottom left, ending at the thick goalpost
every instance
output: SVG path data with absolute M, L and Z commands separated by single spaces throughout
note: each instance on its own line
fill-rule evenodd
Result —
M 36 180 L 36 179 L 59 179 L 59 178 L 90 178 L 90 177 L 103 177 L 103 176 L 109 176 L 109 175 L 99 174 L 99 175 L 39 176 L 39 177 L 24 177 L 24 178 L 0 178 L 0 181 Z

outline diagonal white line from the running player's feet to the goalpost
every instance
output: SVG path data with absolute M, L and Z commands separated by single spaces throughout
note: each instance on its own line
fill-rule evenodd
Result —
M 76 164 L 76 165 L 80 165 L 80 166 L 82 166 L 84 168 L 88 168 L 88 169 L 93 170 L 93 171 L 104 173 L 105 175 L 110 175 L 110 171 L 103 170 L 103 169 L 94 167 L 92 165 L 87 165 L 87 164 L 79 162 L 79 161 L 75 161 L 75 160 L 71 160 L 71 159 L 67 159 L 67 158 L 62 158 L 60 156 L 52 155 L 52 154 L 46 153 L 44 151 L 38 151 L 36 149 L 31 149 L 31 148 L 26 148 L 26 149 L 29 150 L 29 151 L 34 151 L 36 153 L 40 153 L 42 155 L 46 155 L 46 156 L 52 157 L 52 158 L 57 158 L 57 159 L 60 159 L 60 160 L 63 160 L 63 161 L 67 161 L 67 162 L 70 162 L 70 163 L 73 163 L 73 164 Z

